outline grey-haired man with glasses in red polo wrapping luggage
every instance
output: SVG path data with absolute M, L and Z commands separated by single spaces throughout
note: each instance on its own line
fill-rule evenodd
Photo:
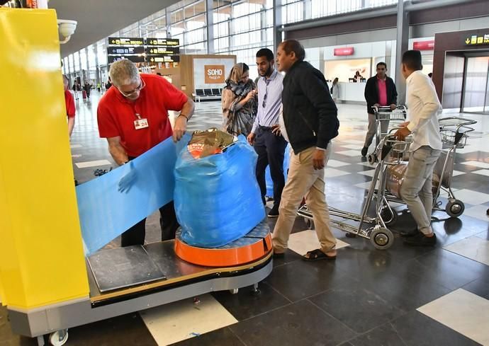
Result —
M 108 150 L 121 166 L 145 151 L 172 137 L 179 141 L 185 134 L 186 123 L 193 115 L 193 101 L 166 79 L 152 74 L 140 74 L 127 59 L 111 65 L 113 88 L 101 98 L 97 109 L 99 135 L 106 138 Z M 180 111 L 174 129 L 168 110 Z M 173 202 L 159 209 L 162 241 L 172 239 L 179 224 Z M 122 234 L 122 246 L 143 245 L 146 219 Z

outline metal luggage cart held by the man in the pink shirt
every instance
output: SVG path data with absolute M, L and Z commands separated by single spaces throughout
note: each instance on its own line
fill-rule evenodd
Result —
M 405 105 L 397 105 L 395 110 L 390 110 L 390 106 L 373 106 L 372 109 L 376 118 L 376 147 L 367 156 L 371 165 L 378 162 L 379 152 L 381 151 L 381 140 L 388 134 L 390 121 L 396 122 L 396 124 L 397 122 L 405 122 L 407 108 Z M 386 132 L 382 131 L 383 127 L 386 127 Z

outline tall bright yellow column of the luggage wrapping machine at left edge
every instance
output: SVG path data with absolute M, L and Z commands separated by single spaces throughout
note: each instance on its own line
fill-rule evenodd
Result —
M 88 296 L 54 10 L 0 8 L 0 69 L 1 302 Z

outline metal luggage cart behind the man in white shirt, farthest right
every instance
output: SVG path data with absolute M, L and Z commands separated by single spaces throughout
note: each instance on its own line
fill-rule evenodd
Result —
M 465 210 L 465 204 L 461 200 L 457 200 L 454 192 L 451 190 L 451 179 L 454 173 L 454 163 L 456 149 L 462 149 L 468 138 L 468 132 L 474 129 L 470 125 L 476 124 L 476 120 L 467 119 L 465 117 L 443 117 L 438 120 L 440 125 L 440 134 L 443 142 L 443 149 L 437 163 L 434 166 L 433 173 L 438 175 L 439 183 L 436 192 L 433 193 L 433 210 L 446 212 L 450 217 L 459 217 Z M 448 194 L 448 202 L 442 208 L 442 201 L 439 200 L 440 192 L 445 191 Z M 404 204 L 403 200 L 391 194 L 383 192 L 389 202 Z M 390 209 L 391 210 L 391 209 Z M 393 224 L 397 214 L 393 215 Z

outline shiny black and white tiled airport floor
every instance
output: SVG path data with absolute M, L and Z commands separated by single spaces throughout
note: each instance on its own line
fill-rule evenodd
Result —
M 96 168 L 108 169 L 106 161 L 115 166 L 106 141 L 97 134 L 98 98 L 94 93 L 89 103 L 77 101 L 72 159 L 79 183 L 96 178 Z M 325 173 L 328 203 L 348 212 L 361 211 L 373 175 L 373 166 L 359 153 L 364 113 L 364 106 L 339 105 L 341 128 Z M 435 248 L 409 248 L 396 236 L 392 248 L 375 250 L 368 240 L 346 238 L 335 230 L 344 242 L 337 260 L 306 263 L 300 255 L 317 241 L 298 218 L 291 248 L 274 260 L 259 296 L 246 288 L 234 295 L 215 292 L 196 303 L 182 301 L 91 323 L 70 329 L 67 345 L 488 345 L 489 117 L 468 116 L 478 124 L 466 147 L 457 150 L 451 186 L 466 211 L 459 219 L 434 213 Z M 197 103 L 189 130 L 220 124 L 219 102 Z M 446 203 L 446 194 L 442 196 Z M 396 210 L 393 232 L 414 227 L 403 205 Z M 271 227 L 274 222 L 269 219 Z M 154 214 L 147 221 L 146 239 L 158 238 Z M 118 241 L 107 247 L 118 246 Z M 36 343 L 12 335 L 6 310 L 0 308 L 0 346 L 6 345 Z

